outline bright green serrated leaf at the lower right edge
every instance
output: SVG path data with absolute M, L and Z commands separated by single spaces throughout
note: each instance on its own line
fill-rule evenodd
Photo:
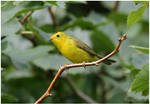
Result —
M 142 92 L 143 95 L 149 94 L 149 64 L 145 64 L 143 69 L 136 75 L 131 91 Z

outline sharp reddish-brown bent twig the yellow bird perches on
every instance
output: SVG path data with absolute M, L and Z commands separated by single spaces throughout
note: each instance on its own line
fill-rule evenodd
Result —
M 121 38 L 118 39 L 118 44 L 116 45 L 115 49 L 108 54 L 107 56 L 101 58 L 98 61 L 94 61 L 94 62 L 87 62 L 87 63 L 79 63 L 79 64 L 68 64 L 68 65 L 64 65 L 64 66 L 60 66 L 57 74 L 55 75 L 54 79 L 52 80 L 52 82 L 50 83 L 47 91 L 35 102 L 35 104 L 39 104 L 42 100 L 44 100 L 47 96 L 52 96 L 51 94 L 51 90 L 52 87 L 54 86 L 56 80 L 58 79 L 58 77 L 61 75 L 61 73 L 65 70 L 65 69 L 69 69 L 69 68 L 73 68 L 73 67 L 85 67 L 85 66 L 98 66 L 99 63 L 101 63 L 102 61 L 108 59 L 109 57 L 111 57 L 112 55 L 116 54 L 119 52 L 119 47 L 120 44 L 122 43 L 123 40 L 126 39 L 126 34 L 124 34 Z

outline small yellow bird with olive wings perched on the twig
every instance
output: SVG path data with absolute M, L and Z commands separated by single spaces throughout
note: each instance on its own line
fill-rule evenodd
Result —
M 72 63 L 92 62 L 102 58 L 92 48 L 76 37 L 69 36 L 64 32 L 56 32 L 50 36 L 50 40 L 60 53 Z M 111 65 L 114 60 L 107 59 L 103 63 Z

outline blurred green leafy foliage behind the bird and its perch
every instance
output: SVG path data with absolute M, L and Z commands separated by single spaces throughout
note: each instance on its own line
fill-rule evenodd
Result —
M 111 52 L 123 33 L 127 40 L 112 57 L 117 63 L 65 71 L 43 102 L 88 102 L 86 96 L 93 102 L 148 103 L 148 8 L 147 1 L 2 1 L 2 103 L 35 102 L 59 65 L 71 63 L 48 40 L 56 31 L 80 38 L 101 55 Z

